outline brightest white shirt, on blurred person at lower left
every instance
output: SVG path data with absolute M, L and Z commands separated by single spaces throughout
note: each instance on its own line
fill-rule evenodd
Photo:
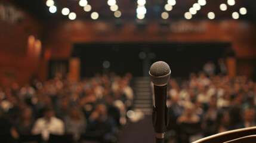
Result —
M 49 139 L 50 133 L 54 135 L 64 134 L 64 122 L 56 117 L 51 117 L 50 120 L 45 119 L 45 117 L 36 120 L 35 125 L 32 129 L 32 134 L 36 135 L 41 133 L 42 138 L 47 141 Z

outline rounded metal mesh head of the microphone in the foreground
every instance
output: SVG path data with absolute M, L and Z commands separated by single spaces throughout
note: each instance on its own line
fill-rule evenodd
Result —
M 164 61 L 157 61 L 150 67 L 149 74 L 154 85 L 163 86 L 168 83 L 171 70 Z

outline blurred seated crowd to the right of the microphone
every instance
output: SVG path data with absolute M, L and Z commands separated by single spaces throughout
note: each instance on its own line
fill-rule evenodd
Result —
M 208 62 L 189 79 L 169 80 L 170 140 L 191 142 L 256 125 L 256 83 L 246 76 L 230 79 L 224 66 L 215 73 L 214 64 Z

